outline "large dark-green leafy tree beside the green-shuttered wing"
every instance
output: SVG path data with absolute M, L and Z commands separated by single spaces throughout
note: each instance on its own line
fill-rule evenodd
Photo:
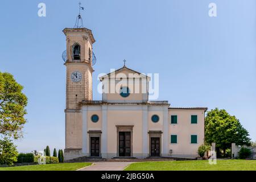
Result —
M 250 145 L 248 131 L 241 125 L 239 119 L 230 115 L 226 110 L 218 108 L 208 111 L 205 117 L 205 142 L 216 143 L 226 154 L 231 143 Z

